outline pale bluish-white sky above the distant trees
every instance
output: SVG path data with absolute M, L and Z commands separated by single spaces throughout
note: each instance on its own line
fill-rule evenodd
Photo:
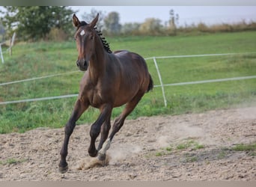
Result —
M 207 25 L 219 23 L 234 23 L 245 20 L 256 22 L 256 6 L 72 6 L 79 10 L 77 16 L 82 19 L 83 13 L 90 13 L 91 9 L 102 10 L 106 15 L 112 11 L 119 13 L 120 22 L 144 22 L 147 18 L 168 21 L 169 10 L 179 14 L 179 25 L 191 25 L 204 22 Z M 86 20 L 90 21 L 90 20 Z

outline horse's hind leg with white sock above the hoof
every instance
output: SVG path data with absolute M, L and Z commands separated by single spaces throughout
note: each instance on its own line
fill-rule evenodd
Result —
M 105 141 L 105 143 L 103 144 L 102 149 L 99 151 L 98 159 L 100 160 L 106 159 L 106 151 L 109 150 L 111 141 L 114 138 L 115 133 L 117 133 L 121 129 L 121 127 L 124 125 L 124 120 L 133 111 L 133 109 L 138 104 L 142 96 L 138 94 L 132 99 L 132 101 L 127 102 L 127 105 L 125 106 L 124 111 L 122 111 L 121 115 L 115 119 L 112 132 L 109 135 L 108 140 Z

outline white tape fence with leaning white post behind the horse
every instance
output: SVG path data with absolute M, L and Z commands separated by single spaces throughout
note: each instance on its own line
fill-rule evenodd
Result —
M 165 97 L 165 86 L 195 85 L 195 84 L 204 84 L 204 83 L 210 83 L 210 82 L 227 82 L 227 81 L 236 81 L 236 80 L 243 80 L 243 79 L 256 79 L 256 75 L 255 76 L 232 77 L 232 78 L 227 78 L 227 79 L 203 80 L 203 81 L 196 81 L 196 82 L 180 82 L 180 83 L 165 84 L 164 85 L 164 84 L 162 84 L 162 76 L 160 74 L 156 59 L 160 59 L 160 58 L 192 58 L 192 57 L 207 57 L 207 56 L 221 56 L 221 55 L 246 55 L 246 54 L 254 54 L 254 53 L 256 53 L 256 52 L 205 54 L 205 55 L 175 55 L 175 56 L 150 57 L 150 58 L 144 58 L 144 59 L 145 60 L 153 59 L 153 62 L 156 66 L 156 71 L 158 73 L 159 82 L 160 82 L 160 85 L 154 85 L 154 87 L 156 87 L 156 88 L 161 87 L 162 88 L 162 97 L 163 97 L 165 106 L 167 106 L 167 101 L 166 101 L 166 97 Z M 0 86 L 16 84 L 16 83 L 19 83 L 19 82 L 29 82 L 29 81 L 37 80 L 37 79 L 47 79 L 47 78 L 54 77 L 54 76 L 64 76 L 64 75 L 67 75 L 67 74 L 70 74 L 70 73 L 77 73 L 77 72 L 79 72 L 79 71 L 72 71 L 72 72 L 67 72 L 67 73 L 58 73 L 58 74 L 49 75 L 49 76 L 34 77 L 34 78 L 30 78 L 30 79 L 17 80 L 17 81 L 13 81 L 13 82 L 4 82 L 4 83 L 0 83 Z M 33 102 L 33 101 L 41 101 L 41 100 L 49 100 L 49 99 L 63 99 L 63 98 L 69 98 L 69 97 L 75 97 L 75 96 L 78 96 L 78 94 L 69 94 L 69 95 L 63 95 L 63 96 L 47 96 L 47 97 L 41 97 L 41 98 L 5 101 L 5 102 L 0 102 L 0 105 L 7 105 L 7 104 L 19 103 L 19 102 Z

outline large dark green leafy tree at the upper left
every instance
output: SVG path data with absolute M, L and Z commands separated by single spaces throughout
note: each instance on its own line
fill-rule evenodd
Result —
M 33 6 L 4 7 L 1 11 L 1 21 L 9 36 L 17 32 L 20 40 L 45 39 L 52 28 L 58 28 L 65 33 L 73 29 L 71 16 L 73 10 L 67 7 Z

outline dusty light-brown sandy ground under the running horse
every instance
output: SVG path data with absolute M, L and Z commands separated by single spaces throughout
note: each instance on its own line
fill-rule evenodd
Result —
M 58 172 L 64 128 L 0 135 L 0 181 L 256 180 L 255 152 L 231 149 L 256 142 L 256 107 L 126 120 L 104 167 L 88 167 L 89 130 L 76 126 L 66 174 Z

